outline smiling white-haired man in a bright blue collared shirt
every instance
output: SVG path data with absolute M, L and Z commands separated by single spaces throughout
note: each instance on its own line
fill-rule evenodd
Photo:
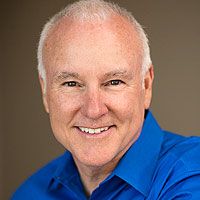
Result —
M 38 48 L 43 102 L 66 153 L 12 199 L 199 199 L 200 140 L 162 131 L 148 110 L 148 40 L 126 10 L 69 5 Z

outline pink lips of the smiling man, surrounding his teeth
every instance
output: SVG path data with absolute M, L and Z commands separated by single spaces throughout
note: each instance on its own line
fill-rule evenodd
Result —
M 104 127 L 106 127 L 106 126 L 104 126 Z M 109 127 L 108 130 L 102 131 L 100 133 L 94 133 L 94 134 L 83 132 L 79 129 L 78 126 L 75 126 L 75 129 L 78 134 L 80 134 L 81 136 L 85 136 L 86 138 L 103 138 L 103 137 L 106 137 L 107 135 L 111 134 L 113 132 L 113 129 L 116 126 L 112 125 L 112 126 L 107 126 L 107 127 Z M 93 128 L 93 129 L 95 129 L 95 128 Z

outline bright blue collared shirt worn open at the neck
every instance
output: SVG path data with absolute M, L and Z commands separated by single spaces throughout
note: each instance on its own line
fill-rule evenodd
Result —
M 199 200 L 200 139 L 161 130 L 149 111 L 139 139 L 90 198 L 68 151 L 32 175 L 12 197 L 56 199 Z

